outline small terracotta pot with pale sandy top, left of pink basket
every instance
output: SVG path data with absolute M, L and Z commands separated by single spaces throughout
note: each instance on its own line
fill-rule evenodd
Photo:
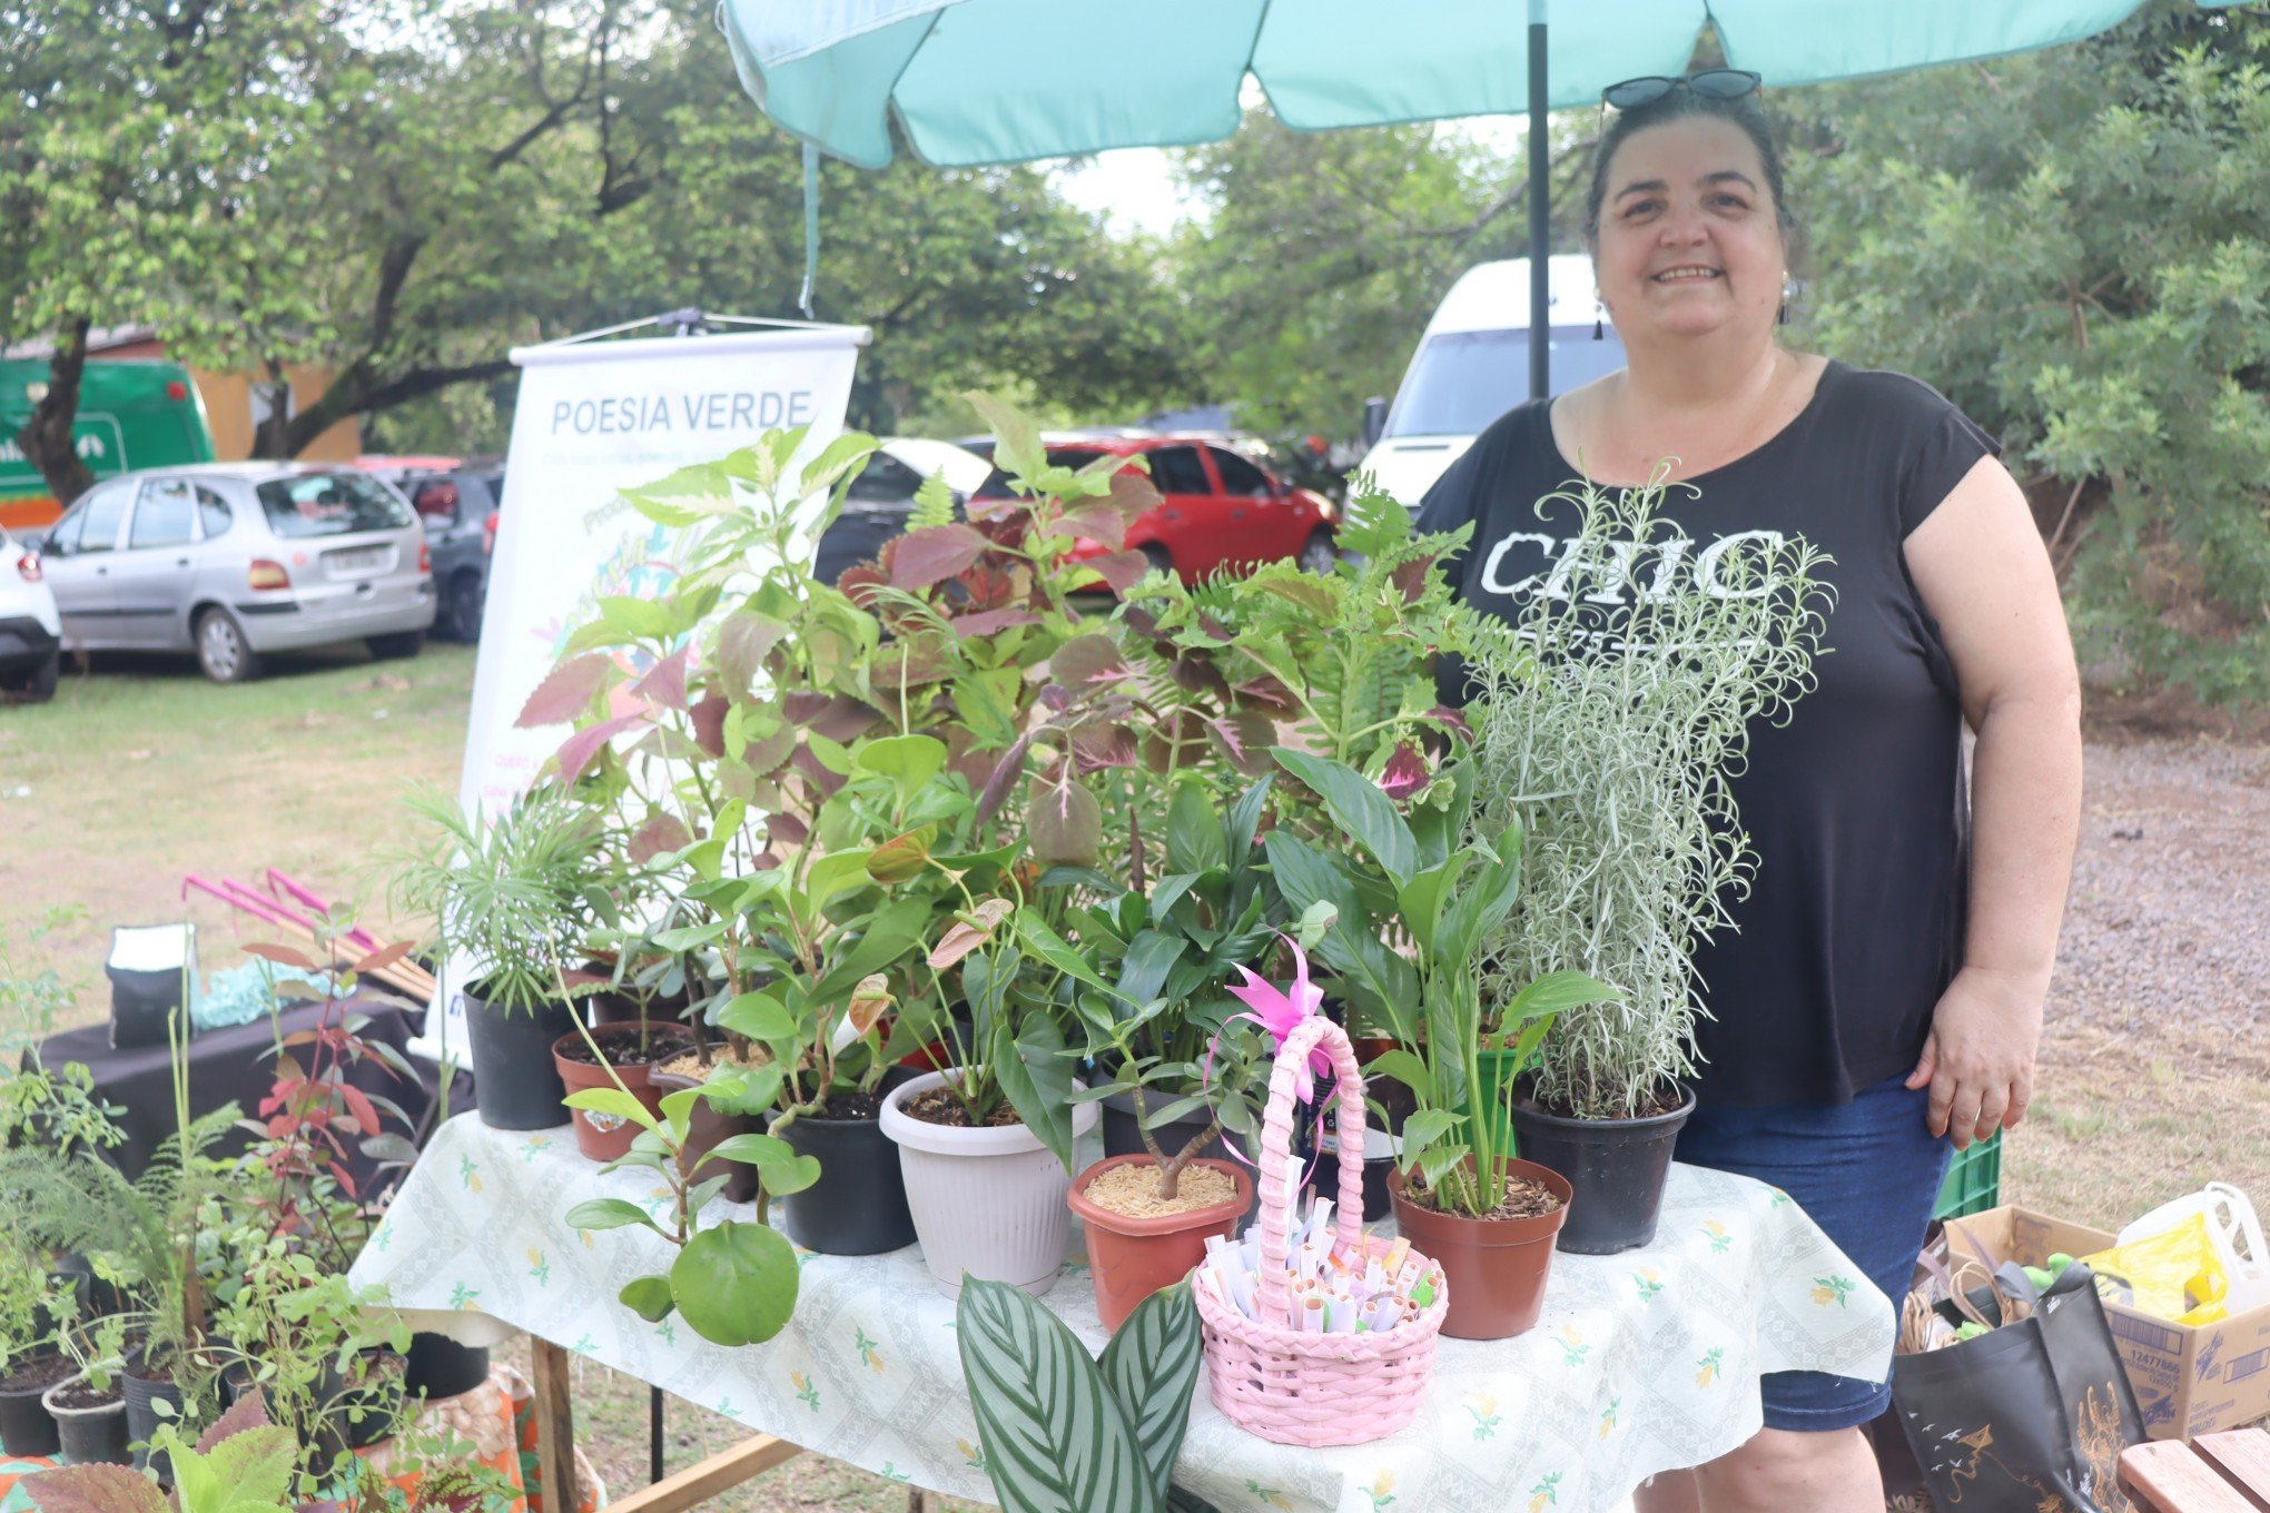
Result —
M 1253 1202 L 1253 1177 L 1230 1161 L 1192 1161 L 1165 1198 L 1149 1155 L 1105 1157 L 1081 1173 L 1065 1202 L 1087 1236 L 1096 1313 L 1117 1329 L 1144 1298 L 1205 1261 L 1212 1234 L 1230 1236 Z

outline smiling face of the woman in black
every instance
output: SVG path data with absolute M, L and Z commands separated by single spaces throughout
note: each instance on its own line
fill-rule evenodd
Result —
M 1594 272 L 1625 343 L 1768 338 L 1789 247 L 1748 132 L 1687 116 L 1628 136 L 1607 166 Z

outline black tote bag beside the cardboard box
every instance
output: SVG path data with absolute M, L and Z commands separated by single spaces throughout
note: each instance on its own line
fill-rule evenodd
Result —
M 2032 1293 L 2016 1266 L 1995 1282 Z M 1995 1288 L 1970 1302 L 2002 1316 Z M 2086 1266 L 2068 1266 L 2029 1318 L 1893 1356 L 1891 1400 L 1936 1508 L 2134 1513 L 2118 1463 L 2145 1438 L 2143 1413 Z

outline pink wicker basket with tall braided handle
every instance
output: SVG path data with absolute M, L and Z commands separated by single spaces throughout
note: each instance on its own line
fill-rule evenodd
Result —
M 1448 1309 L 1448 1288 L 1416 1322 L 1378 1334 L 1301 1334 L 1292 1327 L 1285 1286 L 1287 1225 L 1285 1166 L 1292 1155 L 1294 1080 L 1317 1046 L 1332 1057 L 1339 1084 L 1339 1243 L 1360 1254 L 1387 1254 L 1389 1243 L 1364 1239 L 1364 1077 L 1348 1034 L 1328 1018 L 1303 1021 L 1278 1048 L 1262 1123 L 1262 1268 L 1258 1313 L 1194 1288 L 1205 1329 L 1205 1384 L 1233 1425 L 1278 1445 L 1364 1445 L 1403 1429 L 1419 1413 L 1435 1377 L 1435 1336 Z

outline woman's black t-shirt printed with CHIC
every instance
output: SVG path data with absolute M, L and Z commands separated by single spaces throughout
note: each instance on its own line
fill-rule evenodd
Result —
M 1580 472 L 1548 402 L 1500 417 L 1428 490 L 1421 529 L 1476 522 L 1451 576 L 1514 617 L 1573 533 L 1539 499 Z M 1696 950 L 1712 1018 L 1696 1028 L 1712 1102 L 1848 1102 L 1914 1068 L 1932 1007 L 1961 964 L 1968 794 L 1961 705 L 1902 542 L 2000 447 L 1927 383 L 1830 363 L 1766 445 L 1671 490 L 1662 517 L 1709 574 L 1743 533 L 1805 535 L 1834 563 L 1816 687 L 1786 724 L 1752 721 L 1734 803 L 1757 853 L 1737 930 Z

